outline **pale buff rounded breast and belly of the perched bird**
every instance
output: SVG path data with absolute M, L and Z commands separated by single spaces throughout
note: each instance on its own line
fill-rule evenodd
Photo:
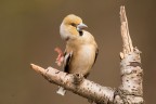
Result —
M 75 50 L 70 61 L 70 73 L 87 75 L 95 58 L 95 48 L 91 44 L 81 46 Z

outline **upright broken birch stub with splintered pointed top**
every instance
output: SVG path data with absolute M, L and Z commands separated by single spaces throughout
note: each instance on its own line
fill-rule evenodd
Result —
M 120 53 L 121 84 L 117 95 L 123 104 L 143 104 L 143 69 L 140 51 L 132 46 L 125 6 L 120 6 L 120 21 L 123 50 Z M 115 102 L 122 104 L 119 99 L 115 99 Z

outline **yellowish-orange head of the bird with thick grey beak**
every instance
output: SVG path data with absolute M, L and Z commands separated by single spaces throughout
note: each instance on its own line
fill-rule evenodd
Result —
M 82 30 L 87 27 L 88 26 L 82 23 L 79 16 L 69 14 L 63 20 L 60 31 L 62 38 L 68 40 L 69 38 L 80 36 Z

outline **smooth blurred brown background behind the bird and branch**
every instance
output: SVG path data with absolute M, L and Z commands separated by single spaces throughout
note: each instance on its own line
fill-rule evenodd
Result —
M 89 104 L 72 92 L 57 95 L 57 86 L 49 83 L 29 65 L 61 69 L 54 63 L 54 48 L 65 48 L 58 29 L 70 13 L 83 20 L 99 44 L 100 54 L 89 79 L 118 87 L 122 4 L 133 46 L 142 51 L 144 100 L 156 104 L 155 0 L 0 0 L 0 104 Z

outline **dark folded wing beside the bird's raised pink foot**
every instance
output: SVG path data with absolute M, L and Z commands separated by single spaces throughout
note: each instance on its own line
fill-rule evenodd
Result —
M 73 55 L 73 52 L 66 52 L 64 53 L 64 72 L 65 73 L 69 73 L 69 63 L 70 63 L 70 60 L 72 60 L 72 55 Z

